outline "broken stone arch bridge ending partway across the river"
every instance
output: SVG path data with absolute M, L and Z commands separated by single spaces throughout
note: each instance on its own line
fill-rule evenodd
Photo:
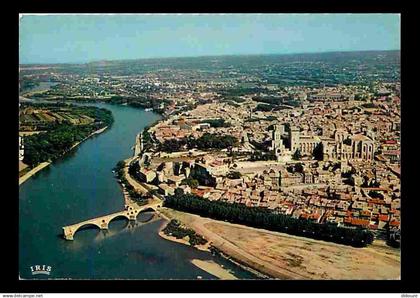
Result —
M 128 220 L 136 220 L 137 215 L 145 210 L 148 209 L 152 209 L 154 211 L 157 211 L 157 209 L 159 208 L 159 204 L 160 202 L 152 202 L 149 203 L 147 205 L 144 206 L 140 206 L 137 207 L 135 205 L 126 205 L 125 206 L 125 210 L 120 211 L 120 212 L 115 212 L 112 214 L 108 214 L 108 215 L 104 215 L 104 216 L 100 216 L 100 217 L 96 217 L 96 218 L 91 218 L 79 223 L 75 223 L 69 226 L 65 226 L 63 227 L 63 235 L 64 235 L 64 239 L 66 240 L 73 240 L 74 239 L 74 234 L 76 234 L 77 230 L 79 230 L 81 227 L 83 226 L 89 226 L 89 225 L 94 225 L 96 227 L 98 227 L 101 230 L 107 230 L 109 223 L 118 218 L 118 217 L 125 217 Z

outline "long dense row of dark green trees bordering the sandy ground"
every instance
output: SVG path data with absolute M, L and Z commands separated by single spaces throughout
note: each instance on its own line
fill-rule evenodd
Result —
M 193 194 L 167 197 L 164 206 L 217 220 L 227 220 L 232 223 L 356 247 L 367 246 L 373 241 L 373 234 L 368 230 L 319 224 L 310 220 L 277 214 L 267 208 L 249 208 L 243 204 L 209 201 Z

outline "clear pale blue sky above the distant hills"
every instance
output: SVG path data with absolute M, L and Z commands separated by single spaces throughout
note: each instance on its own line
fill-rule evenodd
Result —
M 56 14 L 19 20 L 20 64 L 399 49 L 399 14 Z

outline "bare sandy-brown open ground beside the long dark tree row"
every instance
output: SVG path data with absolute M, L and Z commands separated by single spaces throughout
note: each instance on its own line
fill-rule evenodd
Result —
M 354 248 L 162 208 L 238 262 L 280 279 L 400 279 L 400 251 Z

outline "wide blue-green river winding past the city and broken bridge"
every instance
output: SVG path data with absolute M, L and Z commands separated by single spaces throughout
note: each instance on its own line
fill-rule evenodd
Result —
M 109 231 L 84 229 L 74 241 L 62 227 L 124 208 L 112 168 L 132 156 L 135 136 L 159 119 L 127 106 L 91 104 L 112 111 L 115 122 L 19 187 L 19 271 L 23 279 L 217 279 L 191 263 L 213 260 L 238 278 L 251 273 L 208 252 L 159 237 L 165 221 L 131 226 L 124 219 Z M 50 276 L 32 275 L 31 266 L 51 266 Z

